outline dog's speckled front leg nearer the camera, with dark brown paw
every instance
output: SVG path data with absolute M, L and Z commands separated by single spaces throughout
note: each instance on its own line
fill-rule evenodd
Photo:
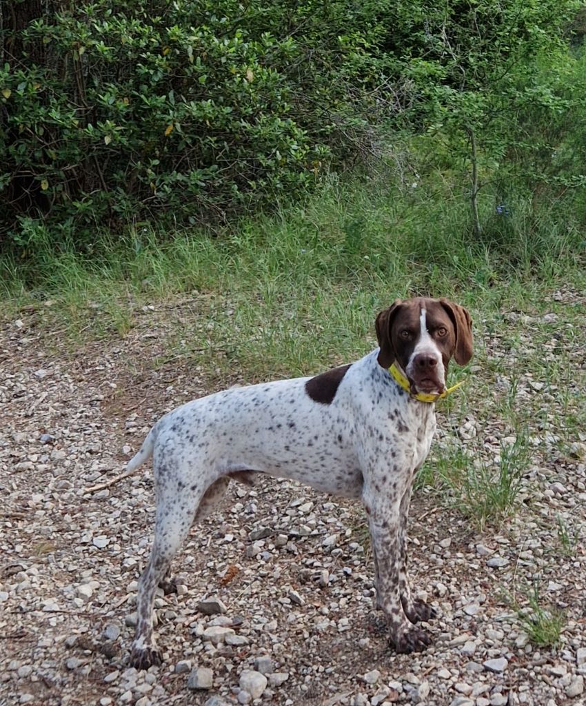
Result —
M 363 501 L 376 556 L 376 601 L 385 613 L 397 652 L 419 652 L 430 644 L 431 636 L 412 626 L 401 603 L 401 500 L 402 493 L 381 493 L 365 485 Z

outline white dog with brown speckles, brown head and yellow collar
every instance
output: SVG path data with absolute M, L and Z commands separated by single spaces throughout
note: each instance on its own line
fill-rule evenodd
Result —
M 448 299 L 395 303 L 376 318 L 378 348 L 311 378 L 231 388 L 177 407 L 157 421 L 126 467 L 153 457 L 155 538 L 138 582 L 131 664 L 160 664 L 153 603 L 191 525 L 210 513 L 229 480 L 258 473 L 360 499 L 376 572 L 376 605 L 397 652 L 424 650 L 416 626 L 434 611 L 409 590 L 407 515 L 412 482 L 436 430 L 448 363 L 472 357 L 472 320 Z

